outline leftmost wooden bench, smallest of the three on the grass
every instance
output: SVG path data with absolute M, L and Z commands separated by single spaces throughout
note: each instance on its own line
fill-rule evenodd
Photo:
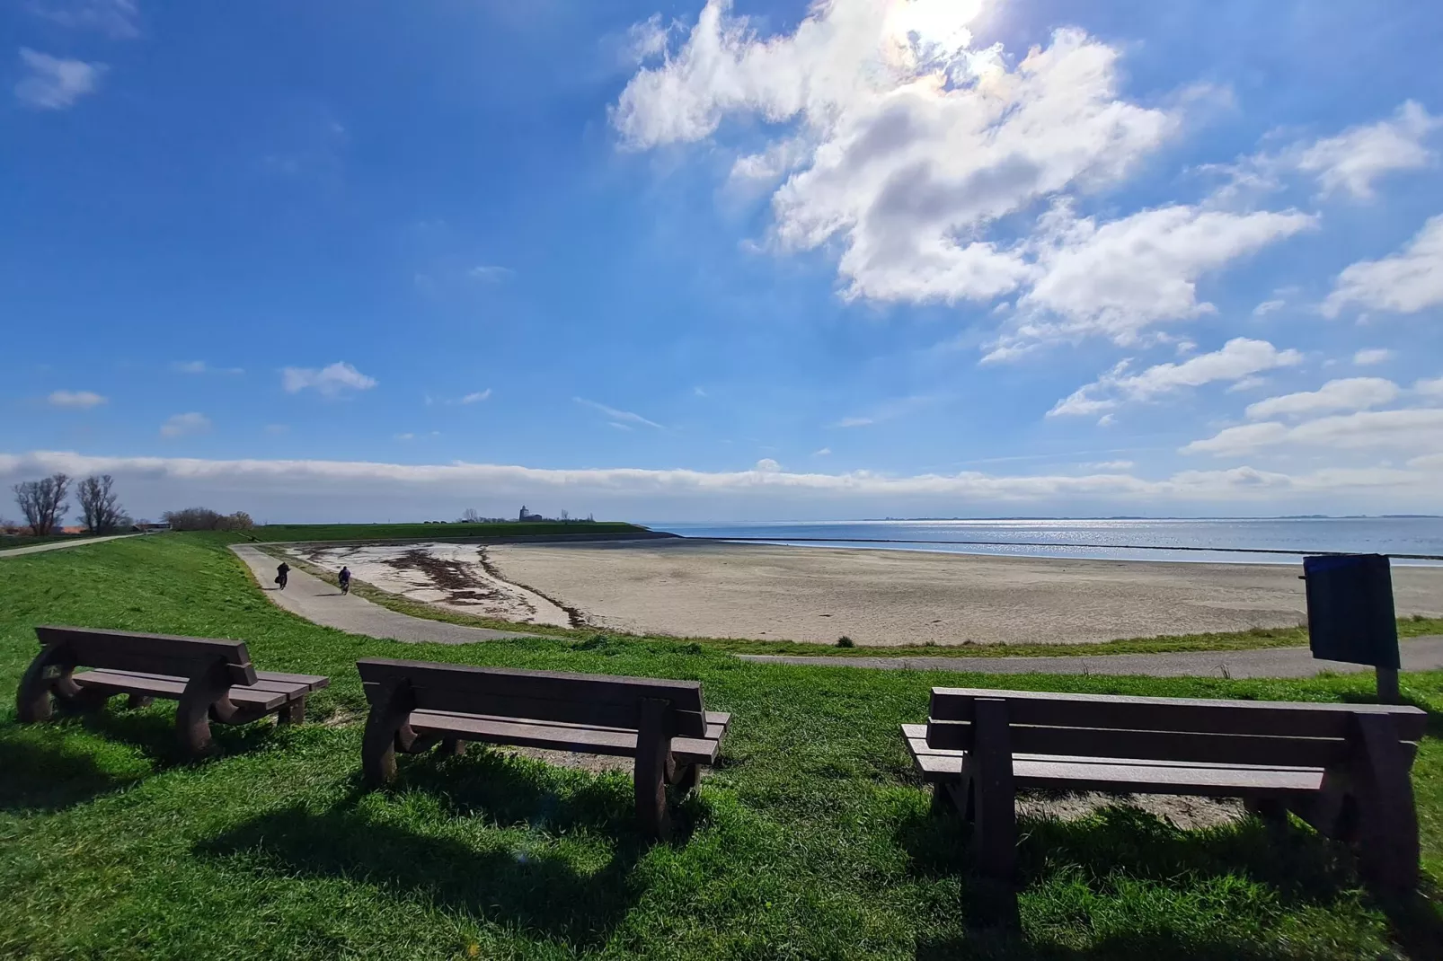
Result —
M 257 671 L 241 641 L 162 633 L 36 628 L 43 645 L 16 695 L 20 723 L 51 717 L 52 698 L 74 710 L 100 710 L 115 694 L 131 707 L 153 698 L 180 701 L 176 733 L 192 755 L 211 746 L 211 721 L 247 724 L 267 714 L 299 723 L 306 695 L 330 681 L 310 674 Z M 78 667 L 94 668 L 75 672 Z

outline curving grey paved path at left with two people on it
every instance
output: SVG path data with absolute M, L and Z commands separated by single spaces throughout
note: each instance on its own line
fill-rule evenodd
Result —
M 280 561 L 250 544 L 232 544 L 231 550 L 245 561 L 266 596 L 277 606 L 326 628 L 413 644 L 475 644 L 478 641 L 534 636 L 514 631 L 468 628 L 459 623 L 397 613 L 364 597 L 342 594 L 338 587 L 294 567 L 290 569 L 286 590 L 277 590 L 274 586 L 276 566 Z

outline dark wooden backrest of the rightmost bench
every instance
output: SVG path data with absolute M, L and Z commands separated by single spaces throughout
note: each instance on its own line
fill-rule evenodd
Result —
M 1355 714 L 1387 714 L 1403 742 L 1427 714 L 1391 704 L 1299 704 L 932 688 L 926 743 L 968 750 L 977 701 L 1006 701 L 1013 753 L 1326 768 L 1354 749 Z M 1410 752 L 1411 753 L 1411 752 Z

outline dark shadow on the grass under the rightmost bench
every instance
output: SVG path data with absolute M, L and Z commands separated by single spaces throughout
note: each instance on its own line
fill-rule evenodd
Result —
M 1111 886 L 1114 879 L 1175 887 L 1179 879 L 1241 877 L 1268 890 L 1273 908 L 1302 910 L 1329 908 L 1359 885 L 1354 864 L 1341 844 L 1306 828 L 1276 827 L 1257 818 L 1235 824 L 1182 831 L 1162 818 L 1124 805 L 1107 807 L 1078 821 L 1019 818 L 1020 890 L 1026 898 L 1046 874 L 1071 867 L 1088 887 Z M 996 929 L 996 915 L 974 892 L 968 843 L 973 828 L 954 812 L 916 815 L 903 821 L 899 843 L 912 856 L 912 872 L 922 877 L 960 877 L 958 903 L 965 935 L 918 945 L 919 960 L 965 957 L 1038 958 L 1264 958 L 1260 945 L 1240 941 L 1224 926 L 1166 929 L 1154 926 L 1104 938 L 1087 948 L 1038 942 L 1022 934 Z M 1423 896 L 1390 909 L 1375 903 L 1392 922 L 1404 945 L 1437 944 L 1437 912 Z M 1421 957 L 1421 955 L 1420 955 Z

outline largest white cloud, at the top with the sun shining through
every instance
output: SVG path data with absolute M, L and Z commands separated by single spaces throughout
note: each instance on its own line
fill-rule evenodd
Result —
M 833 0 L 760 38 L 709 0 L 681 48 L 639 71 L 612 111 L 635 149 L 697 141 L 727 115 L 784 126 L 733 177 L 788 176 L 779 250 L 840 241 L 848 297 L 987 300 L 1032 267 L 978 240 L 1068 188 L 1120 179 L 1177 118 L 1117 95 L 1118 53 L 1079 30 L 1012 66 L 974 49 L 980 3 Z

